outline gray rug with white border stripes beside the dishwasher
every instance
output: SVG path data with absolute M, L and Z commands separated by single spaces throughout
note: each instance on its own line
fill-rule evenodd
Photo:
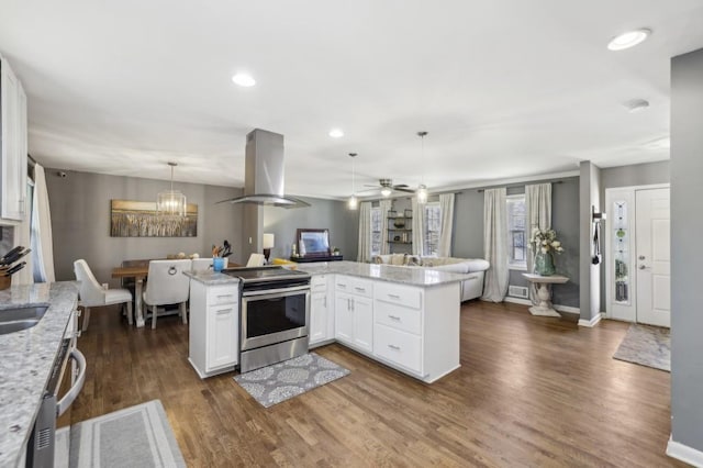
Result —
M 66 466 L 59 450 L 67 432 L 57 437 L 56 467 Z M 71 425 L 68 458 L 71 468 L 186 467 L 159 400 Z

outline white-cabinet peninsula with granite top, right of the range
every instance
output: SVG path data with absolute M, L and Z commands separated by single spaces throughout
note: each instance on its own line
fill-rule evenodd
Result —
M 311 345 L 336 341 L 427 383 L 460 367 L 468 275 L 356 261 L 298 269 L 312 275 Z

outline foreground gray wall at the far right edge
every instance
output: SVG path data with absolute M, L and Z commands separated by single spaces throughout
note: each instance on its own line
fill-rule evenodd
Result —
M 671 62 L 671 438 L 703 453 L 703 49 Z

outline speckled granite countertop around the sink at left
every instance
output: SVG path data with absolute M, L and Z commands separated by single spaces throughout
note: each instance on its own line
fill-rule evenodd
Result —
M 3 309 L 48 305 L 35 326 L 0 335 L 0 466 L 13 467 L 23 455 L 44 387 L 60 347 L 78 286 L 74 281 L 15 286 L 0 290 Z

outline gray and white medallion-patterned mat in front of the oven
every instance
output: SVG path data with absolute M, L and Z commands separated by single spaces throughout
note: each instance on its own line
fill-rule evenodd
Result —
M 348 374 L 348 369 L 308 353 L 235 376 L 234 380 L 263 406 L 269 408 Z

